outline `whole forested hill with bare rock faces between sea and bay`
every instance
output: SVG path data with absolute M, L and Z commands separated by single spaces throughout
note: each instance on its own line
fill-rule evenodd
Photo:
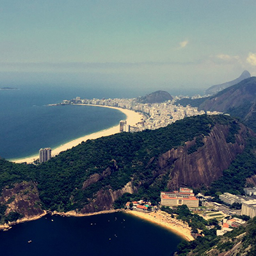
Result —
M 103 211 L 118 207 L 127 193 L 157 202 L 161 190 L 209 186 L 253 136 L 229 116 L 201 115 L 154 131 L 88 140 L 38 166 L 0 159 L 0 217 L 42 209 Z

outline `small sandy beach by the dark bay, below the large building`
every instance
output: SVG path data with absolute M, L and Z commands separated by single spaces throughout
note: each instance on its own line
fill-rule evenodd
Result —
M 150 221 L 151 223 L 155 223 L 164 228 L 168 228 L 168 230 L 177 234 L 177 236 L 183 237 L 187 241 L 194 240 L 193 236 L 191 236 L 191 229 L 188 227 L 188 225 L 184 224 L 180 220 L 171 218 L 170 214 L 166 212 L 140 212 L 127 210 L 125 213 L 131 214 L 146 221 Z

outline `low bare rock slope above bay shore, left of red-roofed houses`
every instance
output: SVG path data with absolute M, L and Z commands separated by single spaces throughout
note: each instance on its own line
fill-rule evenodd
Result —
M 106 211 L 113 207 L 115 200 L 124 195 L 124 193 L 136 193 L 137 189 L 128 182 L 124 188 L 113 191 L 112 189 L 101 189 L 98 191 L 96 198 L 86 205 L 80 212 L 99 212 Z

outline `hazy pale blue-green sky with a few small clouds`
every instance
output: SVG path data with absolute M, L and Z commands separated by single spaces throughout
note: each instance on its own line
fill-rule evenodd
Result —
M 255 0 L 0 0 L 0 84 L 206 89 L 256 76 Z

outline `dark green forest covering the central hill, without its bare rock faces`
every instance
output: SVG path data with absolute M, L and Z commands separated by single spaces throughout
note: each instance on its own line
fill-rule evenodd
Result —
M 82 209 L 99 191 L 122 189 L 132 180 L 138 193 L 118 198 L 116 208 L 139 198 L 157 204 L 160 191 L 168 189 L 170 180 L 170 172 L 159 172 L 159 156 L 195 140 L 195 145 L 189 148 L 189 154 L 193 154 L 204 146 L 203 138 L 215 124 L 228 125 L 230 138 L 238 131 L 237 122 L 230 116 L 191 116 L 154 131 L 124 132 L 88 140 L 38 166 L 0 159 L 0 188 L 33 180 L 44 209 L 70 211 Z

